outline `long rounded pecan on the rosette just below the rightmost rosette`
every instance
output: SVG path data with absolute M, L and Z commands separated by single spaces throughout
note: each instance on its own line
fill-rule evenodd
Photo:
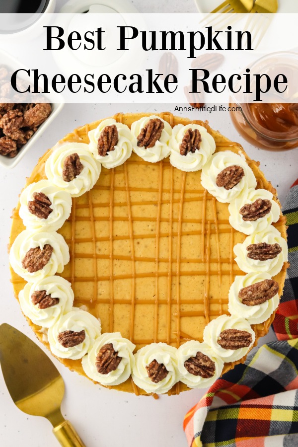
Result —
M 263 280 L 251 286 L 244 287 L 239 291 L 239 298 L 247 306 L 262 304 L 273 298 L 279 290 L 279 285 L 274 280 Z

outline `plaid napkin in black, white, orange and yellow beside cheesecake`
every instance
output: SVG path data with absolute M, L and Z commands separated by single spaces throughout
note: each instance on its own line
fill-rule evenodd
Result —
M 186 414 L 190 447 L 298 446 L 298 180 L 283 213 L 291 267 L 273 322 L 280 341 L 248 355 Z

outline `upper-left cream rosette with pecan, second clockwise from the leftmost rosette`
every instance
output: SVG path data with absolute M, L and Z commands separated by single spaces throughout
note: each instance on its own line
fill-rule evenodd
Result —
M 74 164 L 74 161 L 70 159 L 73 155 L 76 155 L 76 159 L 79 158 L 73 169 L 74 173 L 64 180 L 65 169 L 69 170 L 70 165 Z M 79 197 L 93 188 L 98 180 L 100 170 L 101 164 L 95 160 L 88 145 L 84 143 L 68 142 L 56 146 L 45 165 L 48 179 L 54 185 L 69 192 L 72 197 Z

